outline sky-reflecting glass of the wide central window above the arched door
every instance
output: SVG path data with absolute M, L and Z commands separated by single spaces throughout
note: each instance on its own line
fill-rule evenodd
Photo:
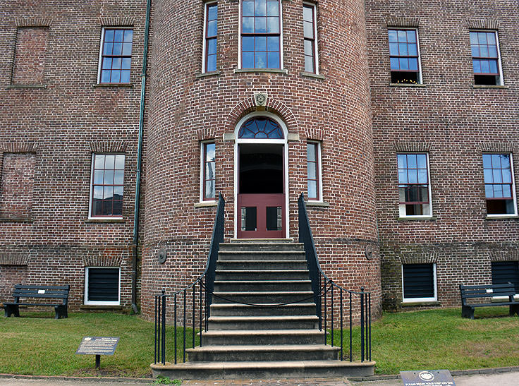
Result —
M 242 68 L 280 68 L 279 0 L 243 0 Z

